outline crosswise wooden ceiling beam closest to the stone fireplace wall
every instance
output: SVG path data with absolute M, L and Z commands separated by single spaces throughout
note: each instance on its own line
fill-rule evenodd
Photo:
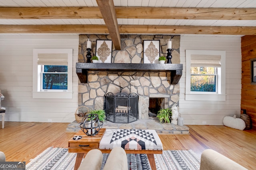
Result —
M 256 35 L 256 27 L 118 25 L 122 34 L 215 34 Z M 0 25 L 0 33 L 108 34 L 106 25 Z

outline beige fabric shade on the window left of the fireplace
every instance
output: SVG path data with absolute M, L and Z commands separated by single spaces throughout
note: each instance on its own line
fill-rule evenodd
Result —
M 68 65 L 67 53 L 38 53 L 38 65 Z

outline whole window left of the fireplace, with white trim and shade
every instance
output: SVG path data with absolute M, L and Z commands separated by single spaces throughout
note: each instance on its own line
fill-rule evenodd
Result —
M 34 49 L 33 98 L 72 98 L 72 49 Z

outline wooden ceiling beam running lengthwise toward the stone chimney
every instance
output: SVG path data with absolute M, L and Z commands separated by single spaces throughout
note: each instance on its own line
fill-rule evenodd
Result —
M 113 0 L 96 0 L 103 16 L 109 35 L 116 50 L 121 50 L 121 38 L 116 19 L 116 11 Z

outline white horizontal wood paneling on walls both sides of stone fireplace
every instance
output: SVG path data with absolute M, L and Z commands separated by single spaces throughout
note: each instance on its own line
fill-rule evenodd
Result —
M 73 48 L 73 99 L 32 99 L 32 50 L 34 48 Z M 226 51 L 226 101 L 186 101 L 186 49 Z M 78 106 L 77 35 L 0 36 L 0 89 L 6 97 L 6 121 L 72 122 Z M 240 114 L 241 47 L 240 37 L 181 36 L 180 113 L 185 124 L 220 125 L 226 115 Z

